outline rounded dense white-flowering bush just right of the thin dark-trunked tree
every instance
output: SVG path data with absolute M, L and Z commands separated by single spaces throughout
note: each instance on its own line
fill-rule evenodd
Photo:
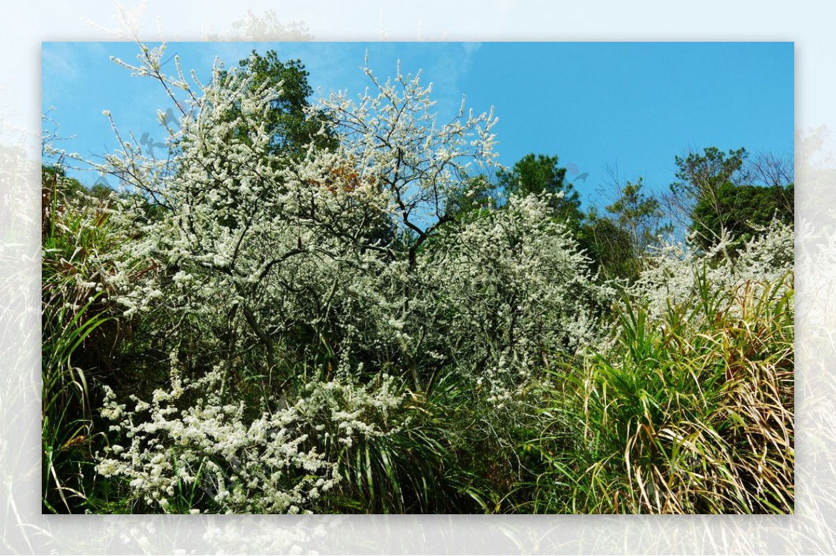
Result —
M 441 236 L 420 260 L 434 311 L 426 341 L 440 357 L 456 346 L 462 372 L 501 401 L 554 351 L 572 354 L 596 338 L 599 290 L 566 225 L 546 197 L 512 195 Z

